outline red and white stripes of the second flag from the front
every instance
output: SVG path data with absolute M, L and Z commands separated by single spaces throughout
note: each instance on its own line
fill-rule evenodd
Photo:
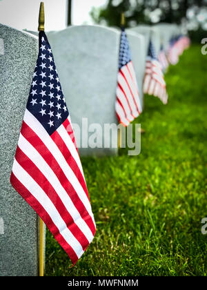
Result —
M 141 113 L 141 101 L 132 61 L 119 69 L 115 111 L 119 122 L 128 126 Z

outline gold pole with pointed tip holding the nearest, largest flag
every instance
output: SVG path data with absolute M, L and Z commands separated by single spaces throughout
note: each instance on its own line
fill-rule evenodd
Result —
M 40 3 L 39 8 L 39 26 L 38 31 L 44 31 L 45 15 L 44 15 L 44 3 Z M 43 220 L 39 218 L 39 276 L 44 275 L 44 224 Z

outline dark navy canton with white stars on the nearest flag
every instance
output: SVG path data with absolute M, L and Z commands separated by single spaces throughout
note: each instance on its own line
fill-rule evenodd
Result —
M 34 70 L 27 109 L 52 135 L 68 117 L 52 50 L 44 32 L 39 32 L 39 55 Z

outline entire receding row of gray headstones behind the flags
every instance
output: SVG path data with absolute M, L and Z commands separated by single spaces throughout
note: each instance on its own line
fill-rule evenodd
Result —
M 149 39 L 154 39 L 159 52 L 161 41 L 168 43 L 176 29 L 170 26 L 167 32 L 159 26 L 137 26 L 127 29 L 126 33 L 143 103 L 141 88 Z M 120 31 L 101 26 L 72 26 L 47 35 L 72 123 L 81 128 L 81 132 L 75 131 L 82 146 L 80 155 L 116 155 L 117 148 L 88 148 L 88 139 L 94 124 L 99 124 L 102 130 L 105 124 L 117 124 L 115 91 Z M 39 220 L 10 184 L 37 54 L 37 33 L 21 32 L 0 24 L 0 276 L 38 275 Z M 84 133 L 87 130 L 88 135 Z

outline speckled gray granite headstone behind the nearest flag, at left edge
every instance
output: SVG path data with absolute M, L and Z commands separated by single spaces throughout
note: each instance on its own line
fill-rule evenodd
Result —
M 39 218 L 10 184 L 38 39 L 0 24 L 0 276 L 37 276 Z

